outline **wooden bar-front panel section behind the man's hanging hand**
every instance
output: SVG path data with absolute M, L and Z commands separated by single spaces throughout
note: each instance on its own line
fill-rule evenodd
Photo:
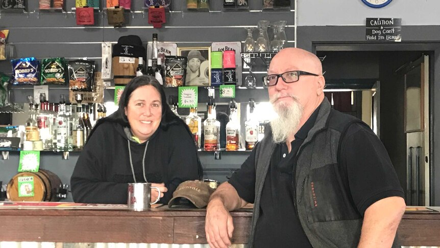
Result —
M 248 242 L 250 234 L 251 219 L 236 217 L 234 221 L 234 232 L 232 242 L 244 244 Z M 207 243 L 205 234 L 205 218 L 202 217 L 180 217 L 175 219 L 174 243 L 198 244 Z

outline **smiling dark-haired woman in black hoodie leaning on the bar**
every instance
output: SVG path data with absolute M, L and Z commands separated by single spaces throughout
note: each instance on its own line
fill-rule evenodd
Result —
M 70 184 L 75 202 L 126 204 L 128 183 L 149 182 L 166 204 L 180 183 L 202 174 L 187 125 L 167 105 L 159 82 L 140 76 L 127 84 L 119 109 L 96 123 Z M 157 196 L 152 190 L 152 200 Z

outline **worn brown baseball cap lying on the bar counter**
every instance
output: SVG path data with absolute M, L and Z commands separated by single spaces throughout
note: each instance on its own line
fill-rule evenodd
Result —
M 203 181 L 185 181 L 181 183 L 169 200 L 169 208 L 204 208 L 208 205 L 209 197 L 214 189 Z

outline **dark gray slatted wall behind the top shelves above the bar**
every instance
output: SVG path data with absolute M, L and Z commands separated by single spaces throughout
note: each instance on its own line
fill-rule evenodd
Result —
M 179 47 L 210 46 L 214 41 L 244 41 L 244 27 L 256 27 L 258 20 L 287 20 L 288 46 L 295 46 L 295 12 L 258 12 L 261 1 L 251 0 L 253 12 L 222 12 L 222 1 L 211 1 L 211 12 L 186 12 L 183 0 L 172 1 L 172 12 L 166 14 L 166 24 L 154 29 L 148 24 L 148 14 L 143 12 L 143 1 L 133 1 L 126 11 L 127 26 L 113 28 L 107 23 L 107 14 L 95 11 L 95 25 L 76 25 L 75 1 L 66 1 L 69 13 L 38 12 L 38 1 L 29 2 L 29 13 L 0 13 L 0 28 L 10 30 L 8 43 L 16 47 L 16 57 L 37 58 L 87 57 L 100 64 L 101 42 L 116 42 L 120 36 L 138 35 L 146 43 L 158 33 L 159 41 L 175 42 Z M 101 6 L 104 3 L 101 0 Z M 293 6 L 292 6 L 293 8 Z M 36 12 L 34 12 L 36 11 Z M 258 32 L 254 32 L 255 39 Z M 98 66 L 100 67 L 100 66 Z M 0 72 L 10 72 L 10 64 L 0 61 Z

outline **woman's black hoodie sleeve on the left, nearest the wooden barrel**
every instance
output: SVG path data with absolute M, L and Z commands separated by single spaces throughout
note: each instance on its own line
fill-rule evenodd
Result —
M 81 152 L 70 178 L 75 202 L 127 204 L 128 184 L 105 182 L 103 155 L 104 125 L 96 128 Z

